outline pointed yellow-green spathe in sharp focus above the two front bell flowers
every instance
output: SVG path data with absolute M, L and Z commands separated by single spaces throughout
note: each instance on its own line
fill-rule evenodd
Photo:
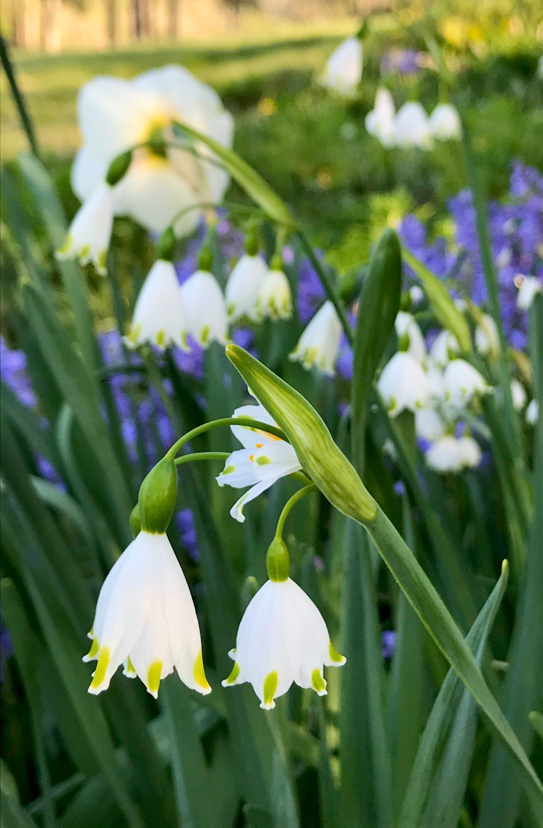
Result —
M 353 465 L 335 445 L 315 408 L 243 348 L 228 344 L 226 354 L 285 432 L 300 464 L 329 502 L 348 517 L 371 522 L 377 514 L 377 503 L 364 488 Z

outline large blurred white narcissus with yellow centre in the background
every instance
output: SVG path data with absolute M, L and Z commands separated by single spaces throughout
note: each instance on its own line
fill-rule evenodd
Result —
M 223 147 L 232 145 L 233 118 L 219 95 L 183 66 L 163 66 L 132 80 L 90 80 L 79 90 L 78 120 L 83 147 L 72 168 L 72 186 L 83 201 L 103 184 L 118 155 L 151 137 L 171 142 L 173 122 L 185 123 Z M 196 142 L 195 150 L 204 158 L 172 147 L 163 152 L 137 147 L 126 175 L 113 187 L 114 213 L 131 215 L 161 233 L 180 210 L 220 201 L 228 174 L 212 162 L 207 147 Z M 189 209 L 176 220 L 175 233 L 191 233 L 199 215 L 199 208 Z

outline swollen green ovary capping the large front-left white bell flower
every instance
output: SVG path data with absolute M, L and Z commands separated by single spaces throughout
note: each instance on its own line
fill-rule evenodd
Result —
M 140 486 L 137 498 L 142 530 L 163 534 L 170 525 L 177 498 L 177 471 L 173 457 L 163 457 Z

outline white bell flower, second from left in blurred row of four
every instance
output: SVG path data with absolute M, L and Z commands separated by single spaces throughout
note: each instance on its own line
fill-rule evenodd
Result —
M 186 330 L 203 348 L 228 341 L 228 318 L 223 291 L 213 273 L 197 270 L 181 285 Z

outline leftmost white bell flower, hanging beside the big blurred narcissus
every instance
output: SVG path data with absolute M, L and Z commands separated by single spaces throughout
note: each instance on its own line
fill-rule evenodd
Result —
M 93 262 L 96 270 L 105 276 L 112 228 L 112 189 L 108 184 L 100 184 L 79 207 L 64 244 L 55 253 L 56 258 L 79 259 L 81 264 Z

